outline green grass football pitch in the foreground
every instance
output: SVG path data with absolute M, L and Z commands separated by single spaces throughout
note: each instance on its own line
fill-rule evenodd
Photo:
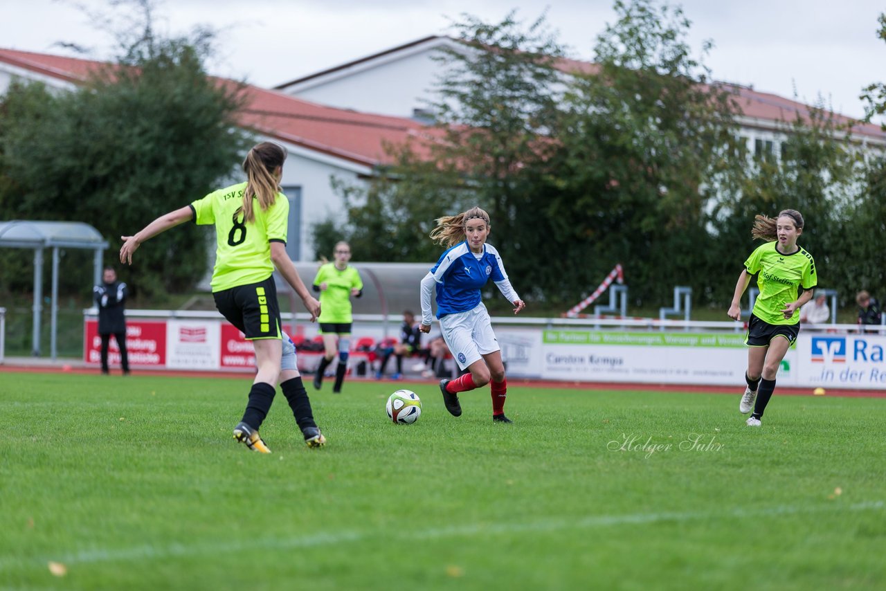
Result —
M 0 373 L 0 587 L 886 585 L 883 399 L 776 393 L 751 429 L 738 393 L 512 387 L 501 425 L 488 388 L 455 418 L 407 385 L 394 425 L 391 383 L 346 383 L 312 394 L 325 448 L 278 394 L 260 455 L 247 385 Z

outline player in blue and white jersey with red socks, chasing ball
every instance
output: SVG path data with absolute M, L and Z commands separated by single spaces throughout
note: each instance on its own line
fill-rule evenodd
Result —
M 495 338 L 489 313 L 480 290 L 490 278 L 509 302 L 514 314 L 526 305 L 511 287 L 501 256 L 489 236 L 489 214 L 471 207 L 463 214 L 442 217 L 431 231 L 431 238 L 447 251 L 422 279 L 422 324 L 419 330 L 431 331 L 431 292 L 437 290 L 437 318 L 443 339 L 461 369 L 469 369 L 454 380 L 440 381 L 443 402 L 453 416 L 462 414 L 458 393 L 492 384 L 493 420 L 512 423 L 504 416 L 508 382 L 501 362 L 501 348 Z

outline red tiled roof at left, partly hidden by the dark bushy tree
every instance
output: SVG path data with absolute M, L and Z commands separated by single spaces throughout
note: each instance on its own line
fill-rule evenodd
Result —
M 5 49 L 0 49 L 0 63 L 74 83 L 84 81 L 104 66 L 102 62 L 87 59 Z M 224 84 L 236 83 L 219 80 Z M 245 93 L 245 109 L 239 114 L 245 128 L 369 167 L 392 163 L 392 157 L 385 151 L 387 144 L 403 144 L 433 133 L 410 119 L 317 105 L 248 84 Z M 416 150 L 421 153 L 419 144 Z

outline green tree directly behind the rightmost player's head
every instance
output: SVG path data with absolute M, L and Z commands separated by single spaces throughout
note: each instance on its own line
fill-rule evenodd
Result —
M 797 209 L 805 224 L 797 242 L 815 257 L 820 287 L 837 289 L 845 303 L 854 296 L 858 282 L 860 261 L 853 243 L 861 238 L 882 245 L 882 234 L 868 233 L 873 228 L 861 235 L 853 222 L 852 231 L 846 231 L 847 220 L 858 219 L 857 212 L 873 205 L 866 194 L 863 153 L 849 129 L 820 107 L 813 108 L 808 118 L 797 115 L 785 128 L 787 139 L 781 149 L 747 159 L 739 191 L 714 209 L 712 225 L 718 233 L 711 252 L 734 261 L 737 277 L 742 257 L 759 244 L 750 237 L 754 215 L 774 217 L 782 209 Z M 872 171 L 867 180 L 876 185 L 876 173 Z M 728 298 L 733 288 L 734 281 L 722 282 L 718 299 Z

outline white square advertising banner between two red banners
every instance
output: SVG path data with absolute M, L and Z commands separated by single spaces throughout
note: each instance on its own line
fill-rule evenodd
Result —
M 167 368 L 219 369 L 221 322 L 167 320 Z

